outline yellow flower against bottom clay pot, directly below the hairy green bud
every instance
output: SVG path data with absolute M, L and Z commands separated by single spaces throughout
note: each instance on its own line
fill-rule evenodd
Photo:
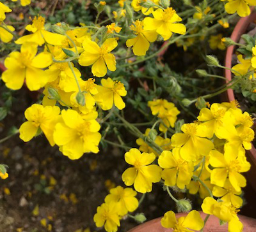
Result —
M 177 221 L 173 211 L 168 211 L 161 219 L 164 228 L 172 228 L 175 232 L 188 232 L 190 229 L 199 231 L 204 227 L 204 221 L 199 212 L 192 210 L 186 217 L 180 217 Z

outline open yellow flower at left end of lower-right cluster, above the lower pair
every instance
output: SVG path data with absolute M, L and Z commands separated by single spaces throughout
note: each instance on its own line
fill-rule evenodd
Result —
M 134 166 L 124 171 L 122 180 L 125 185 L 134 184 L 137 192 L 145 193 L 152 191 L 152 183 L 161 180 L 162 169 L 156 164 L 151 164 L 156 159 L 153 153 L 140 153 L 138 149 L 131 149 L 125 153 L 125 161 Z M 149 165 L 151 164 L 151 165 Z

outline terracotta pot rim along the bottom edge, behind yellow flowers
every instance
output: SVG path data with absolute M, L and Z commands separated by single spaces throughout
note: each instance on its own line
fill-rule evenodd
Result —
M 186 213 L 176 214 L 177 217 L 185 217 Z M 200 212 L 202 219 L 205 219 L 206 214 Z M 243 232 L 255 232 L 256 228 L 256 219 L 252 219 L 250 217 L 245 217 L 243 215 L 239 215 L 240 221 L 244 225 Z M 135 228 L 127 231 L 127 232 L 171 232 L 172 229 L 166 229 L 161 226 L 161 217 L 154 219 L 152 221 L 145 222 L 140 226 L 136 226 Z M 227 232 L 228 224 L 220 226 L 220 221 L 217 217 L 211 215 L 207 220 L 204 228 L 204 232 Z

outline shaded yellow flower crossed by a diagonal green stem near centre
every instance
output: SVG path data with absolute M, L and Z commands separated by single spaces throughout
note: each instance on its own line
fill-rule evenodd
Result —
M 150 133 L 150 128 L 147 128 L 145 131 L 145 136 L 148 136 L 148 134 Z M 161 136 L 156 136 L 156 140 L 154 140 L 154 142 L 159 145 L 159 147 L 161 147 L 163 150 L 172 150 L 172 145 L 171 145 L 171 140 L 170 138 L 163 138 Z M 136 143 L 140 146 L 139 150 L 141 152 L 146 152 L 146 153 L 154 153 L 156 156 L 159 156 L 158 152 L 156 150 L 154 150 L 152 147 L 150 147 L 148 145 L 148 143 L 145 142 L 145 140 L 143 140 L 142 138 L 138 138 L 136 140 Z

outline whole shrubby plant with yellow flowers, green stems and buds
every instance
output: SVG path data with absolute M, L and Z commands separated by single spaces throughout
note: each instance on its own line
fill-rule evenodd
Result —
M 20 4 L 30 2 L 21 0 Z M 4 61 L 7 69 L 3 82 L 12 90 L 22 85 L 30 91 L 43 88 L 42 101 L 24 113 L 26 122 L 20 126 L 20 139 L 28 142 L 43 133 L 50 145 L 57 145 L 69 159 L 89 152 L 97 154 L 106 144 L 127 151 L 127 169 L 122 174 L 127 187 L 110 190 L 95 212 L 97 227 L 115 232 L 127 215 L 144 222 L 145 215 L 134 212 L 145 194 L 152 191 L 152 185 L 161 183 L 177 211 L 189 212 L 178 220 L 172 210 L 166 212 L 161 220 L 164 228 L 203 231 L 209 215 L 214 215 L 221 223 L 228 223 L 228 231 L 243 231 L 237 212 L 243 205 L 241 193 L 246 186 L 242 173 L 250 169 L 245 150 L 252 146 L 253 119 L 235 101 L 210 105 L 205 100 L 233 87 L 255 98 L 255 38 L 250 39 L 253 44 L 249 50 L 242 46 L 242 55 L 237 57 L 241 64 L 232 68 L 235 78 L 211 94 L 202 95 L 195 90 L 196 79 L 175 73 L 156 58 L 175 43 L 184 50 L 193 47 L 200 51 L 202 41 L 209 40 L 212 49 L 225 49 L 225 45 L 234 43 L 228 38 L 221 40 L 222 35 L 214 34 L 214 30 L 228 28 L 236 13 L 245 17 L 255 5 L 256 1 L 248 0 L 100 1 L 94 4 L 94 22 L 51 25 L 45 17 L 36 15 L 26 26 L 26 35 L 17 38 L 15 28 L 4 23 L 12 10 L 0 3 L 1 41 L 20 46 Z M 246 41 L 250 42 L 248 38 Z M 212 55 L 204 58 L 209 67 L 225 68 Z M 224 78 L 211 70 L 196 72 L 207 78 Z M 131 76 L 141 88 L 131 87 Z M 142 78 L 152 85 L 143 84 Z M 250 86 L 239 85 L 244 82 L 250 82 Z M 193 122 L 184 123 L 182 115 L 193 115 L 188 108 L 192 103 L 200 112 Z M 142 113 L 143 122 L 128 122 L 131 112 L 126 116 L 123 111 L 127 104 Z M 148 128 L 143 133 L 138 126 Z M 134 134 L 137 145 L 129 147 L 120 135 L 120 144 L 107 140 L 114 127 L 125 127 Z M 0 177 L 8 177 L 3 164 Z M 204 221 L 198 211 L 192 210 L 189 199 L 173 196 L 173 189 L 198 193 L 207 214 Z

